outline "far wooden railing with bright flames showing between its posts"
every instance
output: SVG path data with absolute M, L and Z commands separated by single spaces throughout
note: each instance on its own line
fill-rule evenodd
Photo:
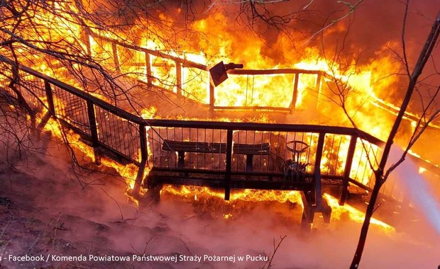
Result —
M 268 75 L 277 75 L 277 76 L 288 76 L 293 75 L 293 79 L 289 81 L 286 88 L 283 88 L 281 91 L 284 91 L 286 96 L 290 96 L 290 101 L 285 102 L 283 105 L 254 105 L 253 104 L 253 93 L 249 96 L 249 101 L 243 103 L 243 105 L 219 105 L 216 102 L 215 96 L 219 94 L 219 89 L 214 87 L 211 83 L 211 78 L 209 74 L 209 67 L 204 64 L 199 64 L 197 62 L 193 62 L 191 60 L 185 59 L 184 56 L 177 57 L 174 55 L 170 55 L 165 52 L 160 52 L 158 50 L 149 50 L 145 47 L 140 47 L 136 45 L 130 45 L 126 42 L 121 42 L 119 40 L 114 40 L 111 38 L 106 38 L 101 35 L 97 35 L 93 33 L 92 30 L 85 30 L 87 33 L 87 37 L 84 42 L 87 46 L 87 52 L 89 55 L 94 54 L 94 46 L 92 45 L 91 40 L 94 42 L 100 42 L 101 45 L 104 43 L 108 46 L 106 51 L 108 55 L 111 55 L 112 62 L 114 64 L 114 68 L 117 71 L 122 71 L 128 75 L 134 75 L 136 78 L 145 82 L 148 86 L 158 88 L 161 91 L 167 91 L 169 93 L 174 93 L 177 96 L 185 96 L 188 98 L 192 98 L 195 101 L 199 101 L 204 105 L 209 105 L 211 109 L 241 109 L 241 110 L 253 110 L 253 109 L 263 109 L 263 110 L 284 110 L 284 111 L 293 111 L 295 110 L 295 106 L 297 104 L 298 94 L 299 94 L 299 79 L 303 74 L 313 75 L 315 76 L 314 81 L 314 99 L 315 105 L 317 103 L 317 96 L 321 91 L 321 80 L 323 76 L 325 76 L 324 71 L 320 70 L 304 70 L 304 69 L 232 69 L 228 71 L 228 74 L 233 77 L 246 77 L 246 88 L 252 87 L 254 85 L 250 85 L 247 81 L 252 81 L 255 76 L 266 76 Z M 100 47 L 99 50 L 105 50 L 104 46 Z M 141 59 L 139 57 L 128 57 L 126 60 L 121 60 L 123 58 L 123 51 L 128 52 L 131 51 L 133 54 L 142 55 Z M 126 53 L 131 55 L 131 53 Z M 160 63 L 155 63 L 153 58 L 161 59 Z M 165 62 L 165 63 L 164 63 Z M 154 74 L 155 64 L 162 64 L 163 66 L 167 66 L 169 69 L 166 77 L 159 78 L 157 74 Z M 133 70 L 133 71 L 123 71 L 124 66 L 125 69 Z M 186 78 L 183 74 L 186 74 L 189 69 L 195 70 L 192 71 L 193 76 Z M 172 74 L 172 75 L 170 75 Z M 248 79 L 252 77 L 252 79 Z M 190 81 L 193 81 L 192 83 Z M 197 83 L 194 83 L 197 81 Z M 191 83 L 191 86 L 185 87 Z M 258 87 L 258 86 L 257 86 Z M 197 88 L 197 89 L 196 89 Z M 244 90 L 244 89 L 243 89 Z M 263 91 L 263 89 L 261 89 Z M 194 91 L 197 91 L 199 94 L 194 94 Z M 202 93 L 202 94 L 200 94 Z M 247 93 L 246 93 L 247 94 Z M 204 97 L 200 98 L 202 95 Z M 248 96 L 237 96 L 237 98 L 247 98 Z

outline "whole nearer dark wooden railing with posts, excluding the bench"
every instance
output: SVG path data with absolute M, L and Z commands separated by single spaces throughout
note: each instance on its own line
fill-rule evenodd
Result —
M 0 60 L 12 64 L 3 57 Z M 89 93 L 41 74 L 29 67 L 20 66 L 19 74 L 21 77 L 16 84 L 16 88 L 18 88 L 21 95 L 26 98 L 26 96 L 30 96 L 29 93 L 31 92 L 31 97 L 38 101 L 35 103 L 35 100 L 32 99 L 35 103 L 35 109 L 46 111 L 47 115 L 57 118 L 63 125 L 81 135 L 84 141 L 88 141 L 94 148 L 95 159 L 99 160 L 99 155 L 105 154 L 123 164 L 133 163 L 139 166 L 136 190 L 141 188 L 143 171 L 147 164 L 152 168 L 162 169 L 163 171 L 177 169 L 174 166 L 175 164 L 169 165 L 168 163 L 167 166 L 164 166 L 158 163 L 160 158 L 164 157 L 163 151 L 158 150 L 158 148 L 165 139 L 175 139 L 177 141 L 190 139 L 196 142 L 225 143 L 226 151 L 221 154 L 222 156 L 219 156 L 219 167 L 216 169 L 202 169 L 208 173 L 221 175 L 222 181 L 224 181 L 222 184 L 225 188 L 225 198 L 229 198 L 231 183 L 233 183 L 231 177 L 233 176 L 259 176 L 265 178 L 266 183 L 253 183 L 255 187 L 263 188 L 263 185 L 266 185 L 264 188 L 284 189 L 283 183 L 270 182 L 273 176 L 282 178 L 282 171 L 268 168 L 267 163 L 270 160 L 267 159 L 268 156 L 266 155 L 254 157 L 254 161 L 258 164 L 254 165 L 253 171 L 240 168 L 238 159 L 243 159 L 244 156 L 238 157 L 233 153 L 233 143 L 243 143 L 245 142 L 243 139 L 251 140 L 248 137 L 253 137 L 252 141 L 246 143 L 269 143 L 271 150 L 277 151 L 278 157 L 284 160 L 290 158 L 290 156 L 288 156 L 287 151 L 284 151 L 285 146 L 282 146 L 280 140 L 287 142 L 289 139 L 294 139 L 302 140 L 310 145 L 309 156 L 304 161 L 307 161 L 311 167 L 307 174 L 313 178 L 313 189 L 317 192 L 316 198 L 321 199 L 321 195 L 319 195 L 321 193 L 321 180 L 327 179 L 341 182 L 341 185 L 343 185 L 341 202 L 343 202 L 346 198 L 349 182 L 368 189 L 368 185 L 364 185 L 362 181 L 351 178 L 353 167 L 355 167 L 352 163 L 353 156 L 359 154 L 356 151 L 363 151 L 362 148 L 356 147 L 356 145 L 360 143 L 361 139 L 378 147 L 383 143 L 380 139 L 368 135 L 368 133 L 348 127 L 148 120 L 128 113 Z M 13 92 L 7 92 L 13 96 Z M 31 97 L 26 101 L 31 101 Z M 47 122 L 48 117 L 43 118 Z M 45 122 L 40 123 L 40 125 L 44 124 Z M 176 135 L 176 132 L 180 132 L 181 135 Z M 209 138 L 207 132 L 211 132 L 214 138 Z M 218 132 L 218 134 L 215 132 Z M 274 137 L 277 137 L 278 142 L 275 143 Z M 302 138 L 299 139 L 299 137 Z M 348 142 L 347 151 L 341 151 L 342 141 Z M 148 144 L 150 144 L 150 149 L 148 149 Z M 279 151 L 280 148 L 281 151 Z M 282 153 L 280 154 L 280 152 Z M 275 156 L 277 154 L 273 154 L 274 158 L 277 157 Z M 323 156 L 329 159 L 327 168 L 321 168 Z M 340 167 L 342 164 L 344 164 L 343 167 Z M 359 166 L 359 164 L 356 165 Z M 183 168 L 183 170 L 192 173 L 201 171 L 199 167 L 197 169 Z M 234 185 L 232 184 L 232 186 Z

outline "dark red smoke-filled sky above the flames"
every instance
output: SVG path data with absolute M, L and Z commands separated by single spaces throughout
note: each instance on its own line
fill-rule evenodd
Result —
M 333 27 L 326 28 L 322 33 L 327 47 L 335 46 L 336 42 L 339 42 L 341 47 L 345 42 L 346 50 L 367 50 L 368 56 L 373 56 L 372 53 L 380 50 L 387 42 L 400 42 L 402 37 L 405 12 L 405 4 L 402 1 L 365 0 L 356 6 L 353 13 L 348 2 L 354 5 L 357 1 L 277 1 L 275 4 L 263 5 L 254 3 L 255 10 L 251 7 L 251 1 L 240 2 L 241 4 L 227 4 L 226 1 L 202 0 L 192 1 L 188 6 L 176 6 L 175 2 L 165 2 L 163 9 L 159 9 L 179 11 L 166 13 L 166 16 L 175 20 L 177 27 L 182 27 L 179 30 L 187 28 L 188 24 L 191 25 L 194 21 L 207 20 L 214 14 L 222 13 L 227 20 L 211 25 L 211 28 L 206 29 L 207 33 L 218 34 L 219 30 L 223 30 L 236 35 L 237 40 L 234 42 L 246 42 L 243 37 L 248 37 L 249 32 L 255 31 L 255 40 L 264 40 L 267 52 L 263 53 L 268 55 L 274 55 L 271 51 L 274 48 L 276 51 L 276 42 L 280 41 L 278 38 L 281 35 L 285 36 L 284 42 L 292 43 L 291 47 L 295 47 L 299 52 L 303 50 L 302 47 L 309 45 L 321 46 L 319 30 L 348 14 L 351 15 Z M 424 44 L 431 24 L 439 12 L 439 6 L 439 0 L 409 1 L 405 30 L 409 54 L 412 54 L 413 50 L 418 51 L 419 46 Z M 153 11 L 156 10 L 153 8 Z M 288 19 L 285 17 L 287 15 Z M 276 16 L 285 18 L 285 21 L 276 20 Z M 350 30 L 345 36 L 348 25 Z M 311 42 L 306 42 L 309 39 Z

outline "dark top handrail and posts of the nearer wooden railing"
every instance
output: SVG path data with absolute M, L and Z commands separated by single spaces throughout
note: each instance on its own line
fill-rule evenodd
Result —
M 13 64 L 13 62 L 10 59 L 7 59 L 6 57 L 0 56 L 0 61 L 7 62 L 9 64 Z M 197 120 L 163 120 L 163 119 L 143 119 L 137 115 L 133 115 L 132 113 L 129 113 L 126 110 L 123 110 L 121 108 L 116 107 L 115 105 L 111 105 L 110 103 L 107 103 L 106 101 L 102 101 L 101 99 L 92 96 L 91 94 L 84 92 L 78 88 L 75 88 L 73 86 L 70 86 L 68 84 L 65 84 L 62 81 L 59 81 L 57 79 L 54 79 L 50 76 L 47 76 L 45 74 L 40 73 L 39 71 L 35 71 L 29 67 L 25 67 L 23 65 L 18 65 L 18 68 L 25 71 L 28 74 L 31 74 L 39 79 L 42 79 L 44 81 L 45 85 L 45 94 L 48 98 L 48 105 L 51 108 L 50 113 L 57 117 L 57 113 L 55 111 L 55 107 L 53 105 L 53 88 L 52 86 L 57 86 L 58 88 L 67 91 L 68 93 L 72 93 L 74 96 L 77 96 L 81 98 L 85 103 L 87 104 L 86 108 L 87 110 L 85 113 L 87 114 L 89 118 L 89 125 L 87 128 L 89 128 L 89 133 L 84 133 L 82 130 L 79 130 L 75 126 L 75 123 L 72 124 L 69 121 L 62 120 L 64 124 L 66 124 L 69 127 L 72 127 L 75 132 L 79 132 L 82 135 L 85 135 L 89 139 L 92 140 L 92 146 L 93 147 L 104 147 L 104 149 L 107 149 L 109 152 L 112 152 L 113 154 L 116 154 L 117 156 L 120 156 L 123 159 L 129 160 L 133 162 L 133 164 L 137 164 L 140 167 L 140 170 L 138 172 L 138 177 L 136 178 L 136 186 L 135 190 L 139 190 L 140 185 L 143 181 L 142 175 L 143 170 L 145 168 L 145 165 L 148 163 L 148 142 L 147 142 L 147 133 L 145 132 L 145 127 L 174 127 L 174 128 L 188 128 L 189 130 L 191 128 L 193 129 L 205 129 L 205 130 L 226 130 L 228 139 L 226 141 L 226 146 L 228 149 L 226 150 L 226 197 L 229 196 L 229 188 L 231 187 L 230 179 L 231 179 L 231 159 L 232 159 L 232 144 L 233 144 L 233 132 L 234 131 L 254 131 L 254 132 L 309 132 L 317 134 L 319 137 L 319 148 L 317 150 L 315 160 L 316 164 L 315 167 L 317 167 L 317 170 L 320 170 L 319 164 L 320 164 L 320 158 L 323 154 L 323 143 L 324 143 L 324 137 L 326 134 L 332 134 L 332 135 L 348 135 L 351 136 L 351 141 L 356 142 L 356 139 L 359 137 L 361 139 L 365 139 L 366 141 L 376 144 L 379 147 L 381 147 L 384 142 L 380 139 L 373 137 L 372 135 L 369 135 L 366 132 L 363 132 L 361 130 L 356 130 L 353 127 L 339 127 L 339 126 L 326 126 L 326 125 L 295 125 L 295 124 L 274 124 L 274 123 L 256 123 L 256 122 L 214 122 L 214 121 L 197 121 Z M 68 103 L 65 104 L 68 106 Z M 141 149 L 141 161 L 139 162 L 136 159 L 133 159 L 133 156 L 128 156 L 125 154 L 124 149 L 121 147 L 121 144 L 119 146 L 115 146 L 114 144 L 106 144 L 106 140 L 99 139 L 98 130 L 97 130 L 97 114 L 94 110 L 94 107 L 98 106 L 109 113 L 113 113 L 114 115 L 119 116 L 120 118 L 123 118 L 125 120 L 128 120 L 129 122 L 132 122 L 135 125 L 138 125 L 137 132 L 136 132 L 136 139 L 139 142 L 139 147 Z M 53 110 L 53 111 L 52 111 Z M 84 111 L 83 111 L 84 112 Z M 62 115 L 62 117 L 68 117 L 66 115 Z M 57 117 L 58 118 L 58 117 Z M 98 122 L 101 124 L 101 127 L 105 122 Z M 119 126 L 119 125 L 118 125 Z M 121 130 L 117 130 L 117 132 L 120 132 Z M 123 132 L 123 130 L 122 130 Z M 353 146 L 354 147 L 354 146 Z M 133 153 L 133 151 L 130 151 Z M 98 154 L 97 151 L 95 151 L 95 154 Z M 353 158 L 353 150 L 350 152 L 350 156 L 346 156 L 346 158 L 351 159 Z M 345 171 L 350 171 L 351 165 L 347 165 L 345 167 Z M 314 188 L 317 190 L 320 190 L 321 185 L 321 173 L 319 171 L 314 172 L 314 177 L 317 178 L 314 180 Z M 350 181 L 351 178 L 349 178 L 349 173 L 346 172 L 345 176 L 343 177 L 343 181 L 347 183 Z M 347 184 L 346 184 L 347 185 Z

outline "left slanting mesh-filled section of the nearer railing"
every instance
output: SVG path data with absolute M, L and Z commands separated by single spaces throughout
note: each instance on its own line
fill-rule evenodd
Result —
M 7 59 L 3 60 L 6 67 L 10 67 L 6 64 Z M 15 87 L 35 110 L 35 118 L 39 121 L 36 127 L 38 129 L 48 127 L 51 117 L 60 121 L 76 134 L 67 137 L 71 140 L 72 146 L 77 147 L 82 144 L 79 149 L 94 161 L 97 163 L 102 161 L 116 168 L 120 173 L 123 172 L 121 176 L 128 178 L 128 184 L 133 188 L 136 172 L 133 172 L 133 168 L 127 169 L 126 166 L 144 164 L 145 167 L 148 157 L 146 122 L 143 118 L 28 67 L 21 66 L 19 70 L 20 79 L 16 81 Z M 7 78 L 4 80 L 3 85 L 9 84 L 7 80 Z M 9 96 L 18 97 L 7 86 L 4 89 Z M 56 124 L 51 122 L 49 125 Z M 50 129 L 55 135 L 62 135 L 57 127 Z M 109 159 L 101 160 L 101 156 L 116 159 L 121 165 Z M 143 171 L 139 173 L 143 176 Z

